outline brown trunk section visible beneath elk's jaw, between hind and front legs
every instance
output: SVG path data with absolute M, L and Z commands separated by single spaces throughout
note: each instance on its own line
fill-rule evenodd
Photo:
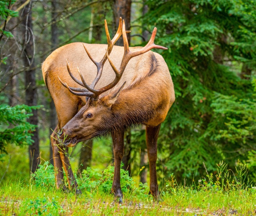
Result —
M 82 170 L 86 170 L 87 167 L 91 165 L 91 150 L 93 148 L 93 139 L 85 141 L 85 144 L 82 146 L 79 159 L 79 168 L 78 173 L 82 173 Z M 82 164 L 83 166 L 80 166 Z

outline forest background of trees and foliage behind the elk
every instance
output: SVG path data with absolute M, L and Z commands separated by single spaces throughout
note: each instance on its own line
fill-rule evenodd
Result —
M 156 26 L 156 44 L 168 48 L 154 50 L 165 58 L 176 94 L 158 138 L 158 176 L 189 184 L 205 177 L 205 167 L 216 174 L 224 161 L 231 170 L 247 164 L 255 186 L 253 0 L 0 1 L 1 182 L 28 182 L 40 163 L 52 163 L 57 118 L 41 63 L 71 42 L 106 44 L 104 19 L 113 36 L 120 16 L 130 46 L 144 46 Z M 73 148 L 70 160 L 75 170 L 104 170 L 112 155 L 111 138 L 93 139 Z M 126 132 L 123 164 L 142 183 L 149 180 L 143 126 Z

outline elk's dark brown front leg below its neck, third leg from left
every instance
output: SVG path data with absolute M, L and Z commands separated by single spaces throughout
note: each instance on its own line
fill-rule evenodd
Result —
M 113 140 L 113 150 L 114 150 L 114 179 L 112 184 L 112 192 L 114 193 L 114 197 L 119 198 L 119 203 L 123 202 L 123 193 L 121 190 L 120 184 L 120 168 L 121 168 L 121 160 L 123 158 L 124 151 L 124 131 L 116 131 L 112 133 Z

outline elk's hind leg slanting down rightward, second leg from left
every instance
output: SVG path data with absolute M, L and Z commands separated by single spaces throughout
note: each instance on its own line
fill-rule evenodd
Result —
M 60 146 L 59 148 L 59 152 L 60 152 L 60 159 L 62 160 L 62 165 L 63 168 L 66 172 L 66 176 L 67 176 L 67 181 L 68 181 L 68 186 L 71 189 L 76 190 L 76 194 L 81 194 L 81 190 L 77 188 L 77 182 L 75 179 L 75 176 L 73 174 L 70 162 L 69 162 L 69 158 L 68 158 L 68 147 L 66 146 Z

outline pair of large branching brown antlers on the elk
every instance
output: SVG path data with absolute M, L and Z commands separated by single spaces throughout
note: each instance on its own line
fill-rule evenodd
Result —
M 121 27 L 122 26 L 122 27 Z M 87 55 L 89 56 L 89 58 L 91 59 L 91 61 L 96 65 L 97 67 L 97 75 L 94 79 L 94 81 L 91 83 L 91 85 L 87 85 L 85 80 L 84 80 L 84 77 L 81 75 L 79 69 L 77 68 L 77 71 L 80 75 L 80 78 L 81 78 L 81 81 L 77 80 L 71 73 L 70 71 L 70 68 L 69 68 L 69 64 L 67 62 L 67 69 L 68 69 L 68 73 L 69 75 L 71 76 L 71 78 L 77 82 L 79 85 L 85 87 L 86 89 L 81 89 L 81 88 L 73 88 L 73 87 L 69 87 L 66 83 L 63 83 L 60 78 L 59 78 L 59 81 L 62 83 L 63 86 L 65 86 L 71 93 L 75 94 L 75 95 L 78 95 L 78 96 L 89 96 L 91 98 L 98 98 L 98 96 L 100 94 L 102 94 L 103 92 L 105 91 L 108 91 L 109 89 L 113 88 L 121 79 L 122 77 L 122 74 L 129 62 L 129 60 L 135 56 L 138 56 L 138 55 L 141 55 L 143 53 L 146 53 L 147 51 L 153 49 L 153 48 L 156 48 L 156 49 L 167 49 L 163 46 L 159 46 L 159 45 L 155 45 L 154 44 L 154 39 L 156 37 L 156 32 L 157 32 L 157 28 L 155 27 L 154 30 L 153 30 L 153 33 L 151 35 L 151 39 L 148 41 L 148 44 L 146 46 L 144 46 L 143 48 L 139 49 L 139 50 L 136 50 L 136 51 L 130 51 L 129 49 L 129 44 L 128 44 L 128 40 L 127 40 L 127 36 L 126 36 L 126 33 L 130 33 L 130 31 L 126 31 L 125 30 L 125 21 L 123 20 L 122 22 L 122 18 L 120 17 L 120 20 L 119 20 L 119 26 L 118 26 L 118 30 L 117 30 L 117 33 L 116 35 L 113 37 L 112 40 L 110 40 L 110 36 L 109 36 L 109 32 L 108 32 L 108 26 L 107 26 L 107 21 L 105 20 L 105 31 L 106 31 L 106 35 L 107 35 L 107 41 L 108 41 L 108 48 L 106 49 L 106 53 L 103 57 L 103 59 L 100 61 L 100 62 L 96 62 L 92 57 L 91 55 L 89 54 L 89 52 L 87 51 L 85 45 L 84 45 L 84 48 L 85 48 L 85 51 L 87 53 Z M 113 62 L 111 61 L 111 59 L 109 58 L 109 54 L 111 53 L 112 49 L 113 49 L 113 46 L 114 46 L 114 43 L 119 39 L 119 37 L 123 35 L 123 46 L 124 46 L 124 54 L 123 54 L 123 58 L 122 58 L 122 62 L 121 62 L 121 65 L 120 65 L 120 68 L 119 70 L 114 66 Z M 97 84 L 97 82 L 99 81 L 100 79 L 100 76 L 102 75 L 102 69 L 103 69 L 103 66 L 104 66 L 104 63 L 105 61 L 108 59 L 111 67 L 113 68 L 114 70 L 114 73 L 116 74 L 116 77 L 114 78 L 114 80 L 108 84 L 107 86 L 104 86 L 98 90 L 94 89 L 95 85 Z M 78 93 L 78 92 L 80 93 Z

